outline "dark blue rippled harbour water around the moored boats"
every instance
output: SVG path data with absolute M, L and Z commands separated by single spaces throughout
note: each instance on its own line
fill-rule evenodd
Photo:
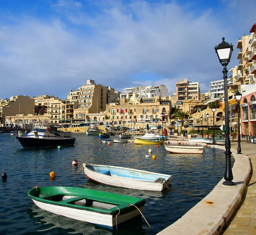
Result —
M 98 136 L 74 136 L 74 147 L 24 149 L 9 133 L 0 135 L 0 171 L 8 176 L 0 185 L 1 235 L 154 235 L 195 206 L 224 176 L 225 154 L 218 149 L 205 148 L 203 155 L 170 154 L 162 145 L 108 145 L 100 144 Z M 75 159 L 78 167 L 72 166 Z M 77 173 L 83 162 L 172 174 L 172 187 L 170 191 L 154 192 L 100 185 L 88 180 L 82 171 Z M 56 174 L 55 180 L 49 177 L 51 171 Z M 73 186 L 143 197 L 143 215 L 152 228 L 142 218 L 116 231 L 43 211 L 26 196 L 34 186 Z

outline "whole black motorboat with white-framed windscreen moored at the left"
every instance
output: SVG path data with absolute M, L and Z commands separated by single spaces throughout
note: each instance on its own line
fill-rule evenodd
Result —
M 48 129 L 32 129 L 27 136 L 16 136 L 23 148 L 50 148 L 74 145 L 75 137 L 61 137 Z

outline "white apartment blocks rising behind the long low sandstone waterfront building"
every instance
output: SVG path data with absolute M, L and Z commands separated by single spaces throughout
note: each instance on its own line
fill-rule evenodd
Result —
M 129 87 L 122 90 L 120 98 L 128 99 L 131 101 L 133 94 L 137 94 L 137 97 L 142 98 L 151 98 L 154 96 L 167 97 L 169 96 L 168 89 L 165 85 L 151 85 L 151 86 L 138 86 L 138 87 Z

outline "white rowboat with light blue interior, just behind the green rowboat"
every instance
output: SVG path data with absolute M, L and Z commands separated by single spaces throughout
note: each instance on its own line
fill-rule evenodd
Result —
M 172 175 L 111 165 L 83 163 L 85 175 L 98 183 L 150 191 L 169 189 Z

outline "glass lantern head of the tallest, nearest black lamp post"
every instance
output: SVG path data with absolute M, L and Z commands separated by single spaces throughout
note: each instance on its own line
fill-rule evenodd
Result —
M 227 66 L 230 62 L 230 58 L 233 52 L 233 45 L 224 41 L 225 38 L 222 38 L 222 42 L 215 46 L 215 52 L 218 55 L 218 59 L 222 66 Z

